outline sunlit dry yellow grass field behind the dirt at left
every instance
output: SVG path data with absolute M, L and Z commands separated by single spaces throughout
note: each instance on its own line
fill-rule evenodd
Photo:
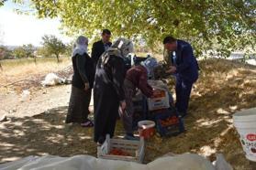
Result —
M 56 58 L 38 58 L 36 64 L 33 59 L 28 58 L 4 60 L 1 63 L 3 71 L 0 71 L 0 92 L 20 92 L 33 86 L 32 83 L 35 83 L 34 88 L 38 87 L 39 81 L 47 73 L 67 68 L 71 65 L 71 58 L 61 58 L 60 63 L 56 62 Z M 17 83 L 10 85 L 14 82 Z

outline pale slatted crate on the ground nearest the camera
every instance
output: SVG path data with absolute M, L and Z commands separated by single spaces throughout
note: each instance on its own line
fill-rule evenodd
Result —
M 110 154 L 112 149 L 120 149 L 130 156 Z M 107 134 L 105 143 L 97 148 L 97 155 L 102 159 L 142 163 L 145 155 L 145 142 L 143 138 L 140 138 L 139 141 L 110 139 Z

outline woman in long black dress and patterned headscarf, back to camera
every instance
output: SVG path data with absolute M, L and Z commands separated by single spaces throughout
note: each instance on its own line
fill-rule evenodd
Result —
M 126 76 L 124 58 L 132 50 L 132 42 L 119 37 L 98 60 L 94 86 L 95 143 L 104 143 L 106 134 L 113 137 L 118 107 L 126 107 L 123 90 Z

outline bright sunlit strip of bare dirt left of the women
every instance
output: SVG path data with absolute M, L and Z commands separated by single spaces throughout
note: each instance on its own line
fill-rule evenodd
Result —
M 29 92 L 28 95 L 15 92 L 0 94 L 0 116 L 4 114 L 8 117 L 33 116 L 52 108 L 67 106 L 71 87 L 63 85 Z

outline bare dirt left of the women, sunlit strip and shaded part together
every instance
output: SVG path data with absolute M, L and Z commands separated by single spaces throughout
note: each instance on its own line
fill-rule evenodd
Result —
M 0 96 L 0 116 L 8 118 L 0 123 L 0 163 L 33 154 L 95 155 L 93 130 L 83 132 L 79 125 L 64 124 L 70 92 L 71 85 L 62 85 L 30 91 L 25 98 L 17 93 Z M 72 148 L 83 140 L 90 140 L 94 147 L 87 147 L 89 151 L 83 151 L 85 146 Z

